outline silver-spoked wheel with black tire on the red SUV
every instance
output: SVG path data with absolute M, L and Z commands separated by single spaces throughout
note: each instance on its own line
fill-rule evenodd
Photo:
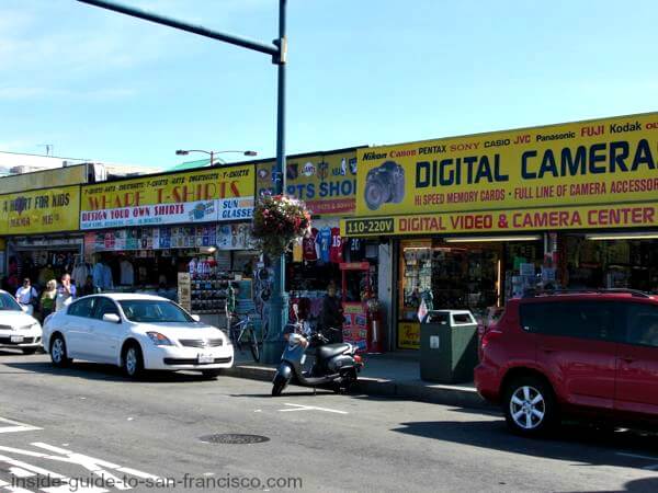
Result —
M 508 426 L 519 435 L 542 435 L 557 417 L 553 389 L 536 377 L 513 380 L 506 390 L 503 406 Z

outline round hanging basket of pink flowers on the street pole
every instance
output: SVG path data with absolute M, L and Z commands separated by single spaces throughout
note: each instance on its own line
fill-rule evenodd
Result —
M 271 259 L 283 255 L 309 229 L 310 213 L 302 200 L 265 195 L 256 203 L 251 234 L 258 248 Z

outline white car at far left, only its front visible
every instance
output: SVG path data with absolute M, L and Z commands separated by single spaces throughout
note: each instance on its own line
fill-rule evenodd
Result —
M 25 313 L 13 296 L 0 290 L 0 347 L 34 354 L 41 339 L 42 329 L 36 319 Z

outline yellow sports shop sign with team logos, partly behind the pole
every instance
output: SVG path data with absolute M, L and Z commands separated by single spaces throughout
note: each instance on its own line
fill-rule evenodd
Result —
M 273 190 L 274 161 L 257 164 L 259 194 Z M 288 157 L 286 194 L 299 198 L 315 215 L 354 214 L 356 193 L 356 151 Z

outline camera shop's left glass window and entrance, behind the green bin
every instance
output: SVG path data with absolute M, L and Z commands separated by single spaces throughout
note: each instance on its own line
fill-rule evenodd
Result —
M 485 321 L 546 271 L 542 241 L 401 241 L 399 262 L 398 347 L 404 348 L 418 346 L 423 299 L 428 308 L 467 309 Z

